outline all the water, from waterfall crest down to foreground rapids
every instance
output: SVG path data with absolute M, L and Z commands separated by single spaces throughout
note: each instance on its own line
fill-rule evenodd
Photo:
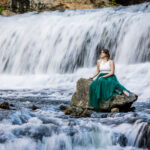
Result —
M 135 112 L 65 115 L 60 105 L 95 73 L 103 47 L 139 96 Z M 0 109 L 0 150 L 150 149 L 150 3 L 0 16 L 3 101 L 12 108 Z

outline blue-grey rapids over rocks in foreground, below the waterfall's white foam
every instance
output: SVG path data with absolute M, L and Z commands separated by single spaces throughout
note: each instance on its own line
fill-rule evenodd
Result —
M 21 95 L 25 91 L 33 94 L 34 97 L 4 97 L 6 92 Z M 68 101 L 51 100 L 48 95 L 44 95 L 45 92 L 49 93 L 47 90 L 1 91 L 0 148 L 2 150 L 13 148 L 45 150 L 46 147 L 62 149 L 62 146 L 66 150 L 70 147 L 150 148 L 150 118 L 146 117 L 150 114 L 149 104 L 136 102 L 135 111 L 126 113 L 102 113 L 91 110 L 90 116 L 79 118 L 64 114 L 64 108 L 69 105 Z

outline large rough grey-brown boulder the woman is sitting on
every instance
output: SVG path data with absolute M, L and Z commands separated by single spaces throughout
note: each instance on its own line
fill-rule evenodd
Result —
M 77 81 L 76 91 L 72 95 L 70 106 L 66 109 L 65 113 L 72 116 L 90 116 L 89 110 L 95 110 L 93 107 L 89 106 L 89 86 L 92 81 L 84 78 L 80 78 Z M 128 112 L 134 111 L 131 107 L 132 103 L 137 100 L 138 96 L 134 93 L 128 98 L 124 94 L 116 95 L 114 100 L 107 101 L 101 105 L 100 109 L 96 111 L 101 112 Z M 86 113 L 85 113 L 86 112 Z

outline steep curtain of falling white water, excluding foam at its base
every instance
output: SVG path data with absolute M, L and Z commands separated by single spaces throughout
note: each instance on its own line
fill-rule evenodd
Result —
M 119 64 L 150 61 L 150 3 L 0 17 L 0 73 L 72 73 L 102 47 Z

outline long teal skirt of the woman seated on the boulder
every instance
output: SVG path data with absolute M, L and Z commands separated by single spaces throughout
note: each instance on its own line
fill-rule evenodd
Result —
M 109 77 L 102 77 L 108 73 L 100 73 L 92 81 L 89 88 L 89 105 L 100 108 L 101 103 L 113 100 L 117 94 L 122 94 L 123 90 L 130 92 L 118 81 L 115 74 Z M 101 77 L 101 78 L 100 78 Z

